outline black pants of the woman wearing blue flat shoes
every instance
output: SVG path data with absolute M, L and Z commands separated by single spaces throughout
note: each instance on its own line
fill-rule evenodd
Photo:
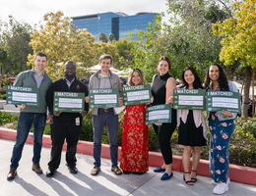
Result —
M 171 123 L 162 123 L 161 125 L 153 124 L 154 130 L 159 138 L 160 152 L 166 165 L 172 163 L 170 138 L 177 125 L 176 119 L 176 110 L 172 110 Z

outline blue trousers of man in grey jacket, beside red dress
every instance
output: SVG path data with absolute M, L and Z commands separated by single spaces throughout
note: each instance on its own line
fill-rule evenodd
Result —
M 97 116 L 93 118 L 94 125 L 94 158 L 95 166 L 100 167 L 101 139 L 103 127 L 107 125 L 108 138 L 110 143 L 110 158 L 112 167 L 117 166 L 117 132 L 118 132 L 118 115 L 113 111 L 103 112 L 98 110 Z

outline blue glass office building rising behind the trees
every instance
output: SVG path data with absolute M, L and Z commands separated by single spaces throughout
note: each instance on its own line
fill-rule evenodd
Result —
M 114 34 L 116 40 L 128 38 L 133 33 L 132 40 L 138 40 L 138 30 L 145 31 L 149 23 L 155 22 L 157 13 L 138 13 L 127 16 L 124 13 L 101 13 L 72 17 L 72 24 L 78 28 L 87 28 L 99 41 L 99 34 L 103 32 L 107 37 Z

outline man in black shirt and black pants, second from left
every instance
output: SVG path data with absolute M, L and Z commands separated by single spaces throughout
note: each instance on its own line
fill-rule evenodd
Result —
M 80 113 L 62 113 L 53 111 L 54 91 L 61 92 L 82 92 L 88 96 L 88 88 L 76 77 L 76 64 L 72 61 L 65 63 L 64 78 L 57 79 L 48 88 L 46 94 L 46 103 L 49 108 L 51 118 L 51 158 L 48 163 L 46 176 L 54 175 L 59 167 L 61 151 L 64 140 L 67 142 L 66 162 L 71 173 L 77 173 L 76 151 L 79 135 L 81 132 L 83 117 L 88 113 L 89 105 L 85 103 L 84 111 Z M 84 101 L 84 100 L 83 100 Z

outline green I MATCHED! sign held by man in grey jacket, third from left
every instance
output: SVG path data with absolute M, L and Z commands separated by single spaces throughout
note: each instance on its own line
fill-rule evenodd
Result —
M 119 107 L 118 88 L 95 88 L 89 91 L 90 108 L 116 108 Z

